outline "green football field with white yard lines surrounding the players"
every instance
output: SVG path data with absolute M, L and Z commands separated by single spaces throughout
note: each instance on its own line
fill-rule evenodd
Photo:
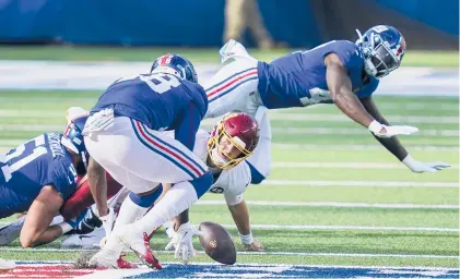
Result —
M 174 51 L 191 56 L 192 61 L 217 62 L 216 49 Z M 0 60 L 19 62 L 20 66 L 23 66 L 21 63 L 34 64 L 16 61 L 24 59 L 151 61 L 164 52 L 165 49 L 148 48 L 0 47 Z M 287 51 L 250 52 L 269 61 Z M 458 52 L 413 51 L 404 59 L 404 65 L 411 66 L 458 66 Z M 32 78 L 26 76 L 35 77 L 34 82 L 40 84 L 39 78 L 48 75 L 46 70 L 52 68 L 50 63 L 49 68 L 42 65 L 43 72 L 11 71 L 8 61 L 0 64 L 0 72 L 9 75 L 8 81 L 17 83 L 20 88 L 30 86 L 26 82 Z M 93 77 L 91 68 L 87 72 Z M 0 85 L 12 84 L 7 82 L 5 75 L 0 76 Z M 25 85 L 21 84 L 21 78 L 12 78 L 14 75 L 24 75 Z M 64 77 L 56 78 L 52 85 L 64 84 L 63 81 Z M 0 89 L 0 151 L 45 131 L 62 132 L 67 108 L 90 109 L 101 93 L 102 89 Z M 96 272 L 96 277 L 458 278 L 458 95 L 396 97 L 377 94 L 375 99 L 390 123 L 420 129 L 418 133 L 400 137 L 415 159 L 447 161 L 452 168 L 437 173 L 412 173 L 366 129 L 353 123 L 333 105 L 270 111 L 272 173 L 262 184 L 249 185 L 245 193 L 252 232 L 266 246 L 266 252 L 244 251 L 223 196 L 208 193 L 192 207 L 191 221 L 197 226 L 201 221 L 225 226 L 237 245 L 237 266 L 212 265 L 212 259 L 202 252 L 193 258 L 192 265 L 178 265 L 172 252 L 164 251 L 167 239 L 161 229 L 151 245 L 158 259 L 167 263 L 164 270 L 158 274 L 117 270 L 116 274 Z M 203 126 L 210 129 L 214 122 L 207 120 Z M 201 251 L 198 240 L 194 244 Z M 17 241 L 0 247 L 0 258 L 13 259 L 19 265 L 14 274 L 17 278 L 91 274 L 94 270 L 70 270 L 62 266 L 75 262 L 87 250 L 62 250 L 60 241 L 30 250 L 23 250 Z M 127 258 L 137 260 L 131 253 Z M 0 274 L 2 277 L 11 278 L 11 274 Z

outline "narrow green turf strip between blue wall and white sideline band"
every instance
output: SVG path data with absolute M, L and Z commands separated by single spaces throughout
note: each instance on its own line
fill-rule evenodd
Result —
M 296 49 L 257 50 L 249 53 L 259 60 L 271 61 Z M 166 52 L 177 52 L 193 62 L 219 62 L 219 48 L 134 48 L 134 47 L 0 47 L 1 60 L 71 60 L 71 61 L 153 61 Z M 404 56 L 404 66 L 458 66 L 458 51 L 415 51 Z

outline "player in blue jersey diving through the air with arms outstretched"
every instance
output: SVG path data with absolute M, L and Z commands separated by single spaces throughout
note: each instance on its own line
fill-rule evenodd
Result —
M 397 135 L 409 135 L 413 126 L 393 126 L 373 100 L 379 78 L 398 69 L 405 40 L 396 28 L 379 25 L 361 36 L 356 44 L 332 40 L 311 50 L 296 51 L 271 63 L 257 61 L 237 41 L 229 40 L 220 54 L 225 64 L 204 88 L 209 99 L 205 118 L 233 110 L 251 116 L 261 106 L 268 109 L 335 104 L 343 113 L 367 128 L 391 154 L 414 172 L 435 172 L 449 163 L 421 162 L 409 155 Z M 305 116 L 308 121 L 308 116 Z M 252 183 L 270 173 L 271 130 L 268 116 L 260 125 L 260 143 L 248 158 Z

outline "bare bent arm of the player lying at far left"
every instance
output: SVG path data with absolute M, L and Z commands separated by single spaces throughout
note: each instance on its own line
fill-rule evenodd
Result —
M 54 186 L 46 185 L 42 189 L 32 203 L 21 230 L 20 241 L 23 247 L 49 243 L 62 235 L 59 226 L 49 227 L 62 204 L 63 199 Z

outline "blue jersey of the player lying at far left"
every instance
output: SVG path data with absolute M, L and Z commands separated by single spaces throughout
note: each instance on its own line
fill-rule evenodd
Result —
M 0 218 L 28 209 L 45 185 L 62 198 L 76 187 L 76 170 L 59 133 L 45 133 L 0 155 Z

